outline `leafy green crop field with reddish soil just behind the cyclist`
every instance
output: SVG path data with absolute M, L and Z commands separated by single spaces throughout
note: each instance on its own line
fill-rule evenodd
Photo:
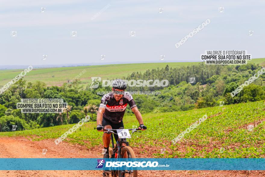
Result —
M 140 153 L 150 153 L 153 157 L 192 157 L 192 158 L 257 158 L 265 156 L 265 108 L 264 101 L 224 105 L 181 112 L 144 114 L 148 129 L 135 133 L 129 143 Z M 171 140 L 185 131 L 203 115 L 208 118 L 181 141 L 172 144 Z M 123 118 L 125 128 L 138 125 L 135 116 Z M 61 125 L 26 131 L 0 132 L 0 136 L 24 136 L 34 141 L 57 139 L 68 131 L 71 125 Z M 254 125 L 249 130 L 248 125 Z M 102 144 L 102 132 L 95 130 L 96 122 L 85 123 L 64 140 L 88 148 Z M 160 154 L 165 148 L 165 154 Z M 224 148 L 224 149 L 222 149 Z

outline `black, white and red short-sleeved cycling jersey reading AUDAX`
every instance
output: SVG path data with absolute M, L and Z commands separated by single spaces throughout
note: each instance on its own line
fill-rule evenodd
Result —
M 123 97 L 118 102 L 115 100 L 113 93 L 108 93 L 102 97 L 99 107 L 105 108 L 103 118 L 114 124 L 118 124 L 122 122 L 128 103 L 131 109 L 136 106 L 133 96 L 128 92 L 124 92 Z

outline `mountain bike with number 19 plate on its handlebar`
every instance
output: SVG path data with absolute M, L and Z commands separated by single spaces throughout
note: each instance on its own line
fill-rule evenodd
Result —
M 126 141 L 126 138 L 131 138 L 129 131 L 140 132 L 139 129 L 106 129 L 104 133 L 111 133 L 111 144 L 112 148 L 109 147 L 109 155 L 110 158 L 136 158 L 133 149 L 129 147 L 129 143 Z M 117 132 L 117 133 L 115 133 Z M 119 136 L 116 145 L 114 147 L 114 138 L 113 134 L 117 134 Z M 126 137 L 126 138 L 125 138 Z M 104 158 L 104 155 L 103 155 Z M 109 176 L 111 174 L 112 177 L 137 177 L 137 170 L 104 170 L 105 176 Z M 103 175 L 104 176 L 104 175 Z

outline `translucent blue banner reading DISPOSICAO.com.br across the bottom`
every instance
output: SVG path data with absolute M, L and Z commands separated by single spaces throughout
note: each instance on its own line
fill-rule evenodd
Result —
M 0 158 L 0 170 L 265 170 L 263 158 Z

